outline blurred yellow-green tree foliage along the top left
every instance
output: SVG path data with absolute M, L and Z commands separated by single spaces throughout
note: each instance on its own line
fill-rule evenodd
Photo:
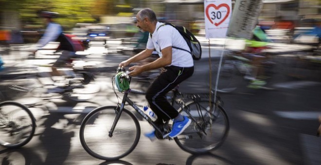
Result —
M 98 23 L 101 16 L 124 12 L 117 10 L 117 5 L 137 6 L 139 3 L 136 0 L 0 0 L 0 18 L 6 16 L 6 12 L 16 12 L 22 26 L 43 27 L 38 13 L 52 11 L 59 13 L 54 21 L 64 30 L 70 30 L 76 23 Z

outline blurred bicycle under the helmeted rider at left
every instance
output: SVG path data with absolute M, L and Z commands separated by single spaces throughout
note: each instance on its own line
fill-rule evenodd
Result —
M 46 68 L 46 66 L 44 67 Z M 18 76 L 14 78 L 14 80 L 10 80 L 8 88 L 23 94 L 31 94 L 37 98 L 61 97 L 72 101 L 91 99 L 91 95 L 100 91 L 100 88 L 89 89 L 89 87 L 87 87 L 90 85 L 89 83 L 94 80 L 94 75 L 91 73 L 93 69 L 91 67 L 73 66 L 72 69 L 75 71 L 75 75 L 64 76 L 64 79 L 60 78 L 61 80 L 54 82 L 54 84 L 47 84 L 46 81 L 48 81 L 48 79 L 52 81 L 50 78 L 51 75 L 48 72 L 32 71 Z M 63 84 L 60 84 L 60 90 L 53 90 L 59 81 L 63 82 Z

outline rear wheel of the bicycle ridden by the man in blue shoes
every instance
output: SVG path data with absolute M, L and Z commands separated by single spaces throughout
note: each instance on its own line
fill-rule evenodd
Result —
M 206 100 L 190 101 L 186 103 L 184 108 L 188 110 L 196 119 L 196 122 L 205 129 L 207 135 L 199 130 L 196 122 L 192 120 L 191 125 L 187 127 L 182 134 L 174 138 L 179 148 L 192 154 L 201 154 L 220 147 L 230 130 L 229 118 L 225 110 L 220 105 L 214 106 L 212 115 L 214 115 L 215 118 L 211 118 L 209 115 L 211 108 L 209 107 L 209 101 Z M 201 110 L 204 120 L 201 119 L 201 113 L 198 113 L 197 109 Z M 181 108 L 178 112 L 181 115 L 188 116 Z

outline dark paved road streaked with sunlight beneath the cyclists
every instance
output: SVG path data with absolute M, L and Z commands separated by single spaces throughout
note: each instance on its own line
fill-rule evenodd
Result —
M 219 54 L 219 50 L 215 53 Z M 47 56 L 41 57 L 24 60 L 23 64 L 17 62 L 13 66 L 48 63 L 52 60 Z M 93 54 L 90 61 L 98 61 L 104 68 L 112 68 L 127 57 L 98 53 Z M 213 64 L 215 62 L 217 58 L 213 59 Z M 191 89 L 206 91 L 209 88 L 208 73 L 208 59 L 196 61 L 194 76 L 181 84 L 180 89 L 183 92 L 193 92 Z M 97 77 L 97 84 L 102 90 L 91 103 L 54 99 L 44 106 L 33 108 L 32 112 L 38 118 L 35 137 L 20 149 L 7 150 L 0 147 L 2 164 L 8 165 L 6 160 L 10 160 L 12 165 L 321 164 L 321 139 L 315 136 L 319 126 L 317 116 L 321 114 L 321 83 L 314 79 L 289 79 L 282 74 L 273 76 L 271 85 L 275 90 L 249 89 L 244 82 L 240 82 L 240 87 L 234 93 L 220 94 L 230 117 L 231 131 L 226 142 L 211 154 L 191 155 L 178 148 L 173 141 L 150 142 L 142 135 L 136 149 L 121 161 L 104 162 L 95 159 L 82 148 L 78 130 L 82 118 L 91 109 L 117 102 L 111 90 L 112 74 L 107 70 Z M 146 83 L 135 81 L 131 84 L 132 88 L 138 89 L 146 89 L 147 86 Z M 141 105 L 145 104 L 143 96 L 132 98 Z M 38 101 L 30 97 L 17 100 L 22 103 Z M 142 133 L 151 130 L 146 122 L 140 121 L 140 124 Z

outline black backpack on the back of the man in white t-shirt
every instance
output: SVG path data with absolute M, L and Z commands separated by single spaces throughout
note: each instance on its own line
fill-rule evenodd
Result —
M 163 23 L 162 25 L 160 25 L 160 27 L 164 26 L 164 25 L 170 25 L 170 26 L 174 27 L 175 29 L 177 29 L 178 32 L 180 33 L 180 35 L 182 35 L 183 38 L 185 39 L 188 47 L 190 48 L 190 51 L 186 50 L 186 49 L 178 48 L 178 47 L 172 47 L 172 48 L 184 50 L 184 51 L 191 53 L 194 60 L 201 59 L 202 48 L 201 48 L 199 41 L 196 39 L 196 37 L 193 35 L 193 33 L 188 31 L 183 26 L 175 26 L 171 23 Z M 158 29 L 160 29 L 160 27 L 158 27 Z M 152 34 L 150 34 L 150 36 L 152 37 Z

